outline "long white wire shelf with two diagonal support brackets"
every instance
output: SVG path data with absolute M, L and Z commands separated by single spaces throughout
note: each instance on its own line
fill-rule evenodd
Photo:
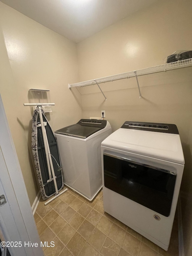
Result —
M 99 83 L 105 83 L 105 82 L 109 82 L 109 81 L 129 78 L 129 77 L 136 77 L 140 98 L 142 98 L 137 76 L 153 74 L 153 73 L 158 73 L 158 72 L 163 72 L 163 71 L 168 71 L 168 70 L 173 70 L 173 69 L 178 69 L 178 68 L 191 67 L 191 66 L 192 66 L 192 58 L 177 61 L 177 62 L 166 63 L 166 64 L 162 64 L 162 65 L 158 65 L 158 66 L 154 66 L 154 67 L 150 67 L 150 68 L 143 68 L 143 69 L 138 69 L 135 71 L 129 71 L 129 72 L 112 75 L 112 76 L 108 76 L 108 77 L 101 77 L 101 78 L 97 78 L 97 79 L 93 79 L 93 80 L 88 80 L 85 82 L 68 84 L 68 86 L 69 86 L 69 89 L 71 89 L 73 87 L 82 87 L 82 86 L 97 84 L 99 89 L 101 90 Z M 102 90 L 101 90 L 101 92 L 102 92 Z M 102 92 L 102 94 L 104 95 L 103 92 Z M 105 95 L 104 95 L 104 97 L 105 97 Z M 105 100 L 107 100 L 106 97 L 105 97 Z

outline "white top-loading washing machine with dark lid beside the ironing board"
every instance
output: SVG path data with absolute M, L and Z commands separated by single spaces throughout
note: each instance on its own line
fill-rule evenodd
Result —
M 101 142 L 110 134 L 110 123 L 96 119 L 55 131 L 64 184 L 89 201 L 102 188 Z

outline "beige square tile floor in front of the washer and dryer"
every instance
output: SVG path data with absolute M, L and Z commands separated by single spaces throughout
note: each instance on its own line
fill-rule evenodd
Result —
M 52 256 L 177 256 L 177 218 L 168 251 L 104 212 L 103 191 L 89 202 L 71 189 L 44 206 L 38 204 L 34 218 L 44 248 Z M 177 215 L 176 215 L 177 216 Z

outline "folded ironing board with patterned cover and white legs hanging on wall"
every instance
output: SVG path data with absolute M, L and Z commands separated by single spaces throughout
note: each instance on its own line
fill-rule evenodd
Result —
M 47 200 L 55 194 L 45 203 L 46 205 L 67 191 L 67 188 L 61 191 L 64 188 L 61 163 L 55 136 L 41 109 L 45 104 L 24 104 L 24 106 L 34 105 L 38 108 L 34 110 L 32 119 L 32 154 L 41 196 L 43 200 Z

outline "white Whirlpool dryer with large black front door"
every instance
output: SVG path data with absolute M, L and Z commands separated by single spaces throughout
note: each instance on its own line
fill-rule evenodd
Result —
M 184 169 L 176 125 L 126 121 L 101 155 L 104 211 L 167 251 Z

